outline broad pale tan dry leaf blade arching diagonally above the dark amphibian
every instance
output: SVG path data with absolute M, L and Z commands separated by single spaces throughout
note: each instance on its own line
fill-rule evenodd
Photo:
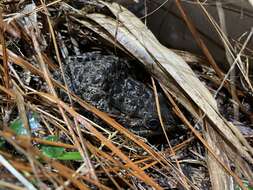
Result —
M 141 60 L 142 63 L 149 68 L 152 74 L 155 74 L 155 71 L 161 69 L 165 75 L 155 76 L 160 79 L 160 81 L 164 81 L 161 77 L 166 76 L 175 79 L 177 84 L 184 90 L 184 93 L 188 94 L 188 97 L 190 98 L 188 101 L 196 103 L 208 116 L 211 122 L 219 129 L 221 134 L 226 137 L 226 140 L 230 141 L 233 146 L 237 148 L 237 151 L 239 151 L 245 158 L 250 162 L 253 162 L 251 156 L 244 150 L 244 146 L 246 146 L 248 151 L 253 155 L 252 148 L 246 141 L 244 141 L 243 146 L 238 138 L 234 136 L 227 121 L 218 112 L 215 99 L 195 76 L 187 63 L 184 62 L 181 57 L 168 50 L 154 39 L 146 26 L 138 21 L 138 18 L 132 13 L 129 13 L 127 9 L 124 9 L 123 7 L 120 7 L 119 9 L 113 6 L 113 4 L 111 6 L 109 5 L 111 4 L 108 4 L 108 8 L 112 10 L 115 16 L 118 16 L 118 19 L 122 22 L 123 26 L 122 24 L 118 24 L 116 20 L 101 14 L 91 14 L 88 15 L 88 17 L 103 26 L 109 33 L 111 33 L 111 35 L 114 35 L 116 40 Z M 129 17 L 127 15 L 129 15 Z M 136 23 L 141 26 L 135 26 Z M 128 30 L 124 30 L 124 28 L 128 28 Z M 141 31 L 138 32 L 138 29 L 141 29 Z M 133 31 L 135 35 L 130 31 Z M 163 83 L 163 85 L 168 88 L 170 87 L 169 83 Z M 240 138 L 244 139 L 242 135 Z

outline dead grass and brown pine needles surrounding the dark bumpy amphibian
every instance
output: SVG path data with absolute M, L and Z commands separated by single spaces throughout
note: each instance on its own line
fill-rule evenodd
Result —
M 252 132 L 243 132 L 243 127 L 235 124 L 243 119 L 249 128 L 252 122 L 253 88 L 245 66 L 250 55 L 244 51 L 252 31 L 234 54 L 224 27 L 200 4 L 224 41 L 230 64 L 225 72 L 180 0 L 175 3 L 182 19 L 206 58 L 166 48 L 140 19 L 117 3 L 77 2 L 2 2 L 0 187 L 249 189 L 246 184 L 253 185 Z M 222 8 L 220 11 L 222 19 Z M 164 130 L 162 145 L 149 143 L 53 79 L 55 69 L 64 73 L 62 62 L 70 54 L 96 48 L 142 63 L 152 77 L 158 114 L 157 88 L 161 88 L 187 132 L 171 139 Z M 243 86 L 230 77 L 234 68 Z M 59 88 L 69 101 L 58 97 Z M 225 99 L 229 103 L 224 103 Z M 82 115 L 77 104 L 110 127 Z M 237 121 L 228 121 L 226 114 L 230 113 Z M 11 130 L 16 118 L 25 134 Z M 32 119 L 36 120 L 34 128 Z M 161 117 L 160 122 L 163 126 Z

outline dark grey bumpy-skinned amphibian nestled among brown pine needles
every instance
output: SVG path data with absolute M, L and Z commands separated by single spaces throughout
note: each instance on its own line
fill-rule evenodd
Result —
M 69 57 L 64 70 L 72 92 L 113 115 L 131 131 L 142 136 L 161 133 L 153 91 L 130 74 L 127 61 L 90 52 Z M 163 119 L 167 128 L 171 128 L 174 119 L 164 97 L 159 96 Z

